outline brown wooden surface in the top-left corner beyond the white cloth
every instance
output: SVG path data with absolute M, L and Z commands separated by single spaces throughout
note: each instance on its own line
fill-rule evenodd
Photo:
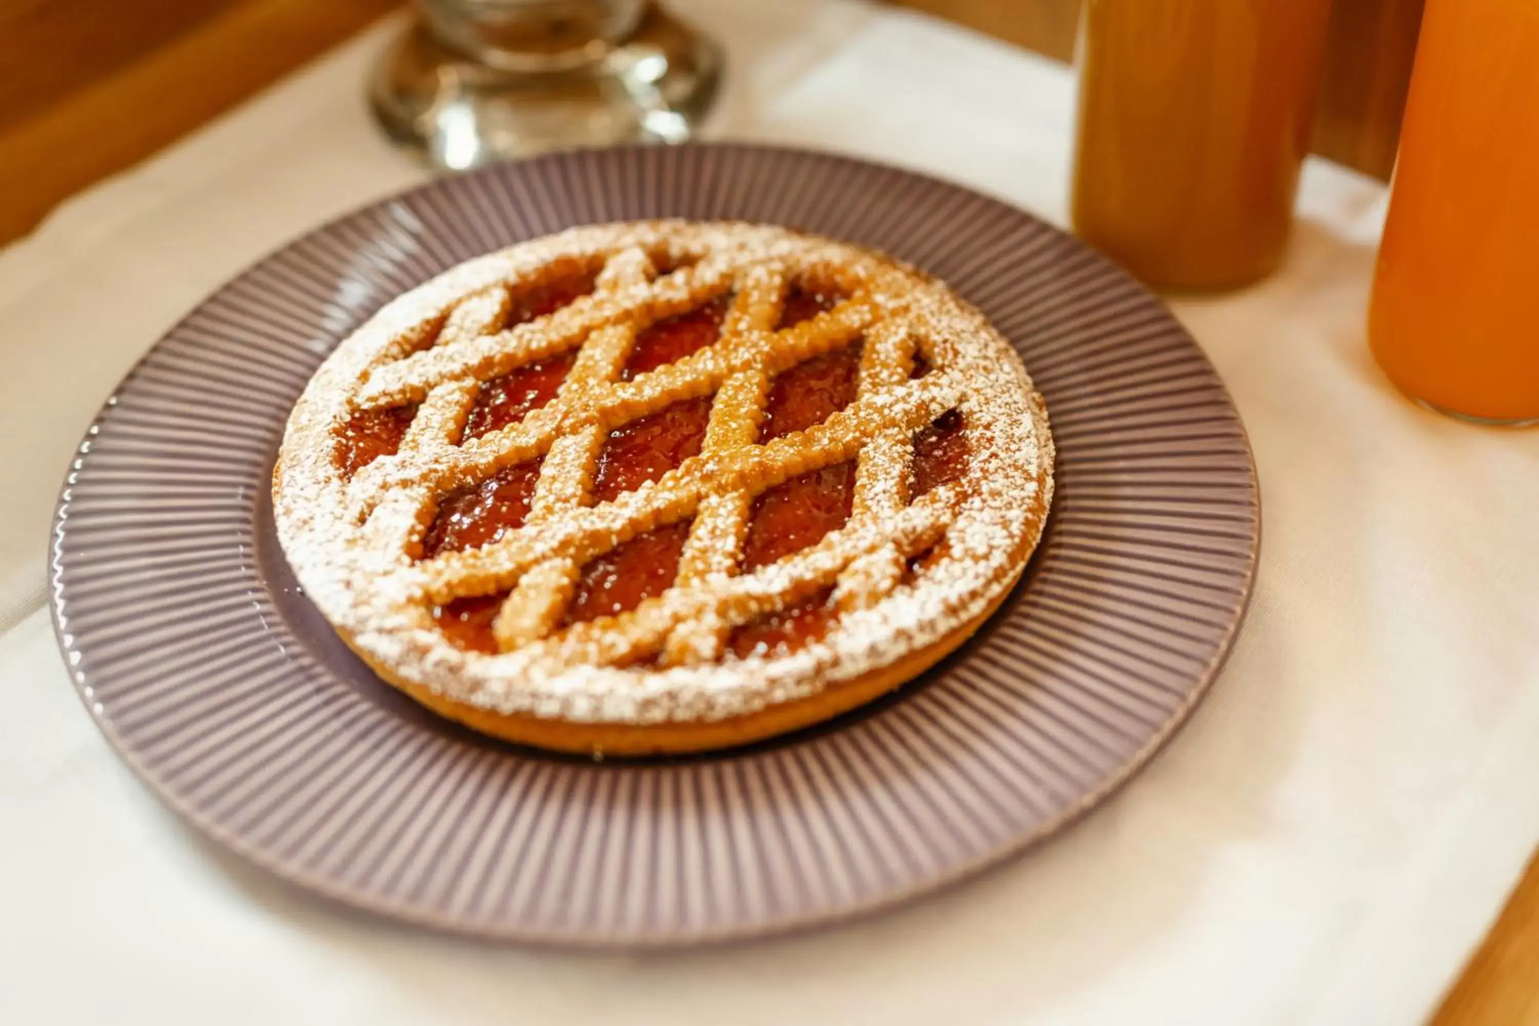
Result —
M 396 0 L 0 0 L 0 243 Z

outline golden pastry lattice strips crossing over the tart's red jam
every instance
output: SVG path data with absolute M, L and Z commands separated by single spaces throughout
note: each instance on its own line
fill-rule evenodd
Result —
M 813 274 L 836 278 L 830 285 L 845 292 L 843 301 L 774 331 L 791 285 Z M 506 331 L 497 328 L 511 305 L 509 288 L 482 289 L 449 312 L 437 345 L 369 374 L 360 408 L 400 401 L 420 408 L 400 449 L 348 485 L 349 509 L 362 521 L 388 503 L 391 515 L 376 515 L 380 523 L 371 534 L 382 545 L 394 534 L 409 551 L 409 535 L 431 520 L 440 495 L 543 457 L 522 528 L 480 549 L 420 565 L 425 603 L 511 589 L 496 620 L 503 651 L 539 643 L 562 658 L 580 651 L 585 661 L 599 663 L 659 651 L 666 665 L 709 661 L 720 657 L 734 626 L 817 588 L 834 585 L 842 609 L 868 608 L 897 586 L 903 561 L 934 543 L 954 517 L 956 489 L 939 489 L 910 508 L 905 481 L 914 431 L 956 405 L 960 383 L 943 372 L 910 380 L 917 328 L 903 305 L 871 294 L 868 281 L 839 277 L 837 269 L 734 263 L 726 255 L 659 275 L 648 254 L 629 246 L 608 255 L 591 295 Z M 714 345 L 619 380 L 642 329 L 728 291 L 733 306 Z M 859 337 L 866 345 L 856 401 L 823 425 L 756 445 L 773 377 Z M 574 348 L 573 371 L 551 403 L 517 425 L 459 443 L 483 381 Z M 588 505 L 609 431 L 713 394 L 700 455 L 614 501 Z M 850 458 L 857 460 L 856 492 L 845 528 L 777 565 L 734 577 L 753 500 L 791 477 Z M 622 617 L 551 637 L 588 560 L 686 517 L 693 526 L 673 589 Z

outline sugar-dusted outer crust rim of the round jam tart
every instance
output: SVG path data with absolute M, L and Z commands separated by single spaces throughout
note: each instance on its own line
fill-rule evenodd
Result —
M 554 245 L 560 249 L 563 242 L 576 240 L 582 246 L 585 237 L 602 237 L 606 231 L 666 234 L 702 228 L 763 232 L 825 254 L 846 252 L 851 260 L 897 269 L 908 274 L 916 288 L 943 294 L 930 297 L 934 300 L 933 309 L 948 328 L 968 337 L 974 360 L 985 357 L 976 378 L 979 388 L 991 391 L 993 386 L 993 391 L 1014 400 L 1003 403 L 1005 412 L 1014 408 L 1017 414 L 1023 414 L 1020 420 L 1025 421 L 1002 423 L 997 403 L 974 409 L 971 397 L 963 395 L 970 437 L 977 437 L 977 431 L 991 432 L 988 458 L 996 465 L 1008 465 L 1005 469 L 1013 471 L 1003 477 L 1010 478 L 1005 483 L 1014 486 L 1008 491 L 1017 500 L 1008 517 L 1000 515 L 997 495 L 994 508 L 983 511 L 994 537 L 1000 537 L 1000 529 L 1008 535 L 1007 545 L 986 552 L 983 561 L 988 566 L 982 569 L 988 572 L 982 580 L 973 577 L 974 586 L 960 595 L 962 601 L 925 601 L 923 588 L 916 588 L 919 598 L 910 601 L 913 609 L 905 618 L 903 635 L 894 637 L 890 631 L 888 637 L 877 637 L 876 643 L 870 617 L 856 614 L 850 618 L 866 617 L 865 629 L 854 632 L 863 634 L 863 641 L 856 638 L 860 645 L 851 645 L 843 637 L 853 631 L 846 631 L 842 623 L 823 643 L 810 646 L 810 652 L 788 657 L 669 671 L 580 668 L 548 674 L 539 666 L 519 665 L 511 655 L 485 657 L 448 651 L 442 638 L 437 638 L 436 646 L 432 638 L 425 643 L 420 637 L 409 637 L 409 631 L 402 631 L 388 618 L 382 626 L 380 618 L 371 617 L 366 609 L 359 615 L 359 603 L 351 589 L 351 581 L 359 577 L 339 575 L 336 565 L 317 566 L 312 558 L 317 548 L 325 548 L 317 545 L 315 520 L 309 515 L 322 497 L 315 494 L 312 481 L 294 488 L 288 480 L 291 475 L 277 471 L 274 503 L 279 538 L 295 574 L 322 614 L 385 680 L 449 718 L 497 737 L 543 748 L 602 749 L 616 754 L 719 748 L 805 726 L 897 686 L 966 640 L 1008 594 L 1040 538 L 1053 494 L 1053 443 L 1047 409 L 1014 349 L 982 314 L 928 275 L 868 249 L 785 229 L 671 222 L 593 226 L 466 261 L 392 301 L 339 346 L 295 405 L 280 468 L 302 463 L 306 443 L 314 445 L 317 438 L 329 437 L 337 417 L 336 401 L 334 397 L 328 400 L 317 392 L 336 388 L 337 375 L 331 374 L 328 380 L 326 371 L 339 357 L 352 366 L 372 360 L 380 348 L 420 320 L 425 311 L 506 274 L 517 263 L 512 257 L 528 257 L 542 246 Z M 1007 388 L 1005 378 L 1013 378 L 1008 383 L 1013 388 Z M 1014 395 L 1008 395 L 1010 392 Z M 994 423 L 988 423 L 991 417 Z M 999 469 L 1000 466 L 993 466 L 991 472 Z M 977 512 L 963 511 L 959 521 Z M 1007 523 L 1010 520 L 1013 523 Z M 894 649 L 899 649 L 897 655 L 893 655 Z

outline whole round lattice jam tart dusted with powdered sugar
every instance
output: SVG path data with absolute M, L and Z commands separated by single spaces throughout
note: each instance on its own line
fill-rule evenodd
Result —
M 579 228 L 389 303 L 289 417 L 306 594 L 385 680 L 549 749 L 683 752 L 851 709 L 999 606 L 1053 492 L 1010 345 L 880 254 Z

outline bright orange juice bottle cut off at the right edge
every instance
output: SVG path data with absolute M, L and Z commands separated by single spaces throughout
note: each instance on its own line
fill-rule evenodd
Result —
M 1539 3 L 1428 0 L 1368 337 L 1408 395 L 1539 421 Z

